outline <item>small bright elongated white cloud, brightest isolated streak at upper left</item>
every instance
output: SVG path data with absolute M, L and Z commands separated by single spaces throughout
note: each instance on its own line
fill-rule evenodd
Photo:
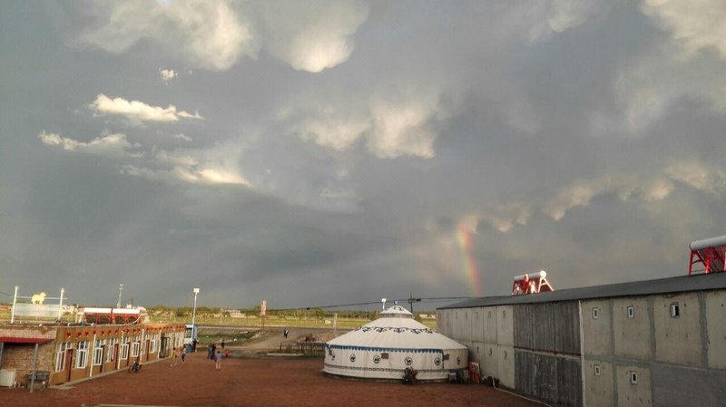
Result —
M 180 117 L 204 120 L 199 111 L 191 114 L 187 111 L 177 111 L 172 104 L 162 108 L 144 102 L 127 101 L 123 98 L 111 99 L 103 93 L 99 94 L 88 107 L 99 114 L 117 114 L 137 124 L 141 124 L 142 121 L 179 121 Z

